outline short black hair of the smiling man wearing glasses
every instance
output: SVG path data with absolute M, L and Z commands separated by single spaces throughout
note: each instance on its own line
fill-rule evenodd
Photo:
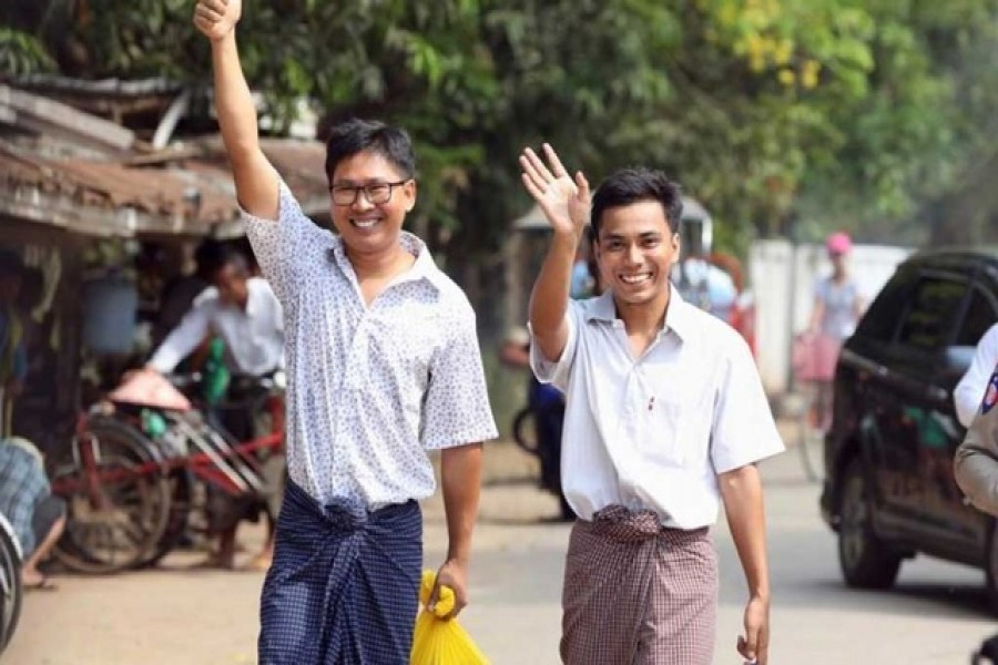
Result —
M 342 161 L 365 151 L 388 160 L 403 177 L 416 177 L 413 141 L 404 130 L 376 120 L 352 119 L 329 131 L 326 141 L 326 178 L 329 184 L 333 184 L 333 173 Z

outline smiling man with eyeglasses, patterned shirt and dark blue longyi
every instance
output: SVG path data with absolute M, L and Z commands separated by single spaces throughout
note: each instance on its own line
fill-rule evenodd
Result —
M 418 500 L 441 450 L 449 546 L 437 575 L 467 603 L 481 441 L 496 437 L 464 293 L 401 231 L 408 136 L 378 122 L 326 147 L 338 235 L 314 225 L 257 140 L 240 0 L 201 0 L 222 137 L 253 249 L 284 306 L 288 487 L 261 600 L 262 664 L 409 662 L 422 559 Z M 435 590 L 431 604 L 437 595 Z

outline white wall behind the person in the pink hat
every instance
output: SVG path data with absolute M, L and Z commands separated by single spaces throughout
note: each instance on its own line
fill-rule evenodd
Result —
M 849 270 L 867 304 L 908 254 L 907 247 L 854 245 Z M 793 258 L 792 258 L 793 257 Z M 814 303 L 814 285 L 832 265 L 819 244 L 757 241 L 748 255 L 748 278 L 755 297 L 756 359 L 766 392 L 782 395 L 788 388 L 791 345 L 807 326 Z

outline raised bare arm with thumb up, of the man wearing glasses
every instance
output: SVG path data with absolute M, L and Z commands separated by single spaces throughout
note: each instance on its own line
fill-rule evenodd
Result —
M 241 16 L 242 0 L 198 0 L 194 25 L 212 42 L 215 110 L 240 205 L 256 217 L 277 219 L 277 174 L 259 147 L 256 108 L 236 48 Z

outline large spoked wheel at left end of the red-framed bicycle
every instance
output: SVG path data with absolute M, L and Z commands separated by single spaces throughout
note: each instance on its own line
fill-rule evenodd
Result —
M 90 447 L 98 481 L 88 484 L 82 463 L 62 466 L 53 474 L 53 493 L 67 503 L 55 557 L 81 573 L 116 573 L 140 565 L 170 518 L 167 477 L 159 467 L 147 467 L 157 464 L 159 454 L 136 429 L 109 418 L 91 419 L 79 446 Z

